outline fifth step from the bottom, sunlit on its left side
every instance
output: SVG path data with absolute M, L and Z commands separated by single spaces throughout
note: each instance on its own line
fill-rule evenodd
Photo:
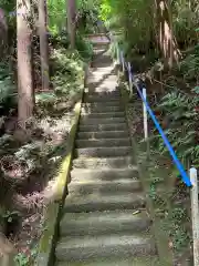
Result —
M 87 194 L 95 193 L 102 196 L 109 193 L 130 193 L 142 190 L 142 183 L 138 180 L 116 180 L 116 181 L 87 181 L 80 180 L 78 182 L 71 182 L 69 184 L 69 193 L 82 194 L 84 197 Z

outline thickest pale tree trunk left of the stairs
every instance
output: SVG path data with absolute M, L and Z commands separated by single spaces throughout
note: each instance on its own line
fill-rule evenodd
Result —
M 17 49 L 18 49 L 18 120 L 19 126 L 25 129 L 25 123 L 33 114 L 34 98 L 32 83 L 32 54 L 30 1 L 17 1 Z

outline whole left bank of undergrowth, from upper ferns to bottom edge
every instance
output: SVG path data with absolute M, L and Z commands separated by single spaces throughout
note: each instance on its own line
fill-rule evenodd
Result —
M 42 211 L 51 197 L 53 177 L 67 150 L 73 108 L 80 100 L 84 69 L 93 53 L 84 38 L 78 38 L 77 50 L 71 51 L 67 38 L 64 33 L 62 37 L 54 38 L 54 47 L 51 47 L 53 90 L 35 93 L 34 119 L 27 122 L 25 137 L 19 137 L 17 117 L 10 113 L 17 109 L 14 79 L 9 63 L 0 65 L 0 108 L 1 112 L 7 111 L 0 123 L 0 202 L 1 211 L 4 209 L 0 224 L 15 244 L 19 252 L 15 264 L 20 266 L 33 265 L 36 256 Z

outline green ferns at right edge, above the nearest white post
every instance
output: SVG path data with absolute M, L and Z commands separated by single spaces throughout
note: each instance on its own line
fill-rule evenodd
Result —
M 175 90 L 165 95 L 158 110 L 170 121 L 166 134 L 182 162 L 198 166 L 198 105 L 197 94 L 190 95 Z M 167 153 L 160 137 L 157 137 L 158 149 Z

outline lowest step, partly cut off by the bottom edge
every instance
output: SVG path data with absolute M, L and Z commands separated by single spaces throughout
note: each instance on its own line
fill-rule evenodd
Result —
M 65 262 L 56 263 L 55 266 L 69 266 Z M 92 262 L 70 263 L 70 266 L 163 266 L 157 256 L 130 257 L 130 258 L 98 258 Z

